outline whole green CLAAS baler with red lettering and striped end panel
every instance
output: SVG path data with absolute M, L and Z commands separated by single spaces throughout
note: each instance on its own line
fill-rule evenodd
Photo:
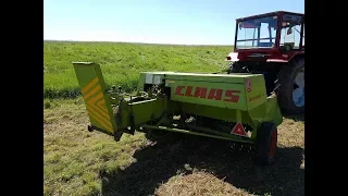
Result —
M 283 121 L 275 94 L 262 74 L 140 73 L 137 94 L 105 89 L 99 64 L 74 62 L 90 120 L 89 131 L 114 137 L 176 132 L 254 147 L 254 160 L 270 164 Z

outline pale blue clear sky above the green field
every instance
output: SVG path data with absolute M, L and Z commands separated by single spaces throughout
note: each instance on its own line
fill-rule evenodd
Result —
M 44 40 L 233 45 L 235 20 L 304 0 L 44 0 Z

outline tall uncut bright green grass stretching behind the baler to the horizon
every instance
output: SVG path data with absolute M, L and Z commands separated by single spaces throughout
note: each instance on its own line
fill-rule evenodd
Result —
M 101 65 L 108 86 L 136 88 L 141 71 L 210 73 L 224 69 L 232 46 L 169 46 L 117 42 L 44 41 L 44 98 L 75 98 L 73 61 Z

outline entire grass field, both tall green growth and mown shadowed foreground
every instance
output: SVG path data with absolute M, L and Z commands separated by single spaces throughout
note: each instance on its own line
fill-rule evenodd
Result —
M 107 84 L 133 90 L 140 71 L 215 72 L 232 47 L 44 42 L 45 195 L 304 195 L 304 119 L 278 127 L 278 159 L 201 137 L 151 145 L 141 133 L 121 142 L 87 132 L 72 61 L 101 64 Z M 64 98 L 64 99 L 62 99 Z

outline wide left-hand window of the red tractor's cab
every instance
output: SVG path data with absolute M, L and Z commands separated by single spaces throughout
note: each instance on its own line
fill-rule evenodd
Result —
M 236 48 L 273 48 L 276 27 L 275 15 L 238 22 Z

